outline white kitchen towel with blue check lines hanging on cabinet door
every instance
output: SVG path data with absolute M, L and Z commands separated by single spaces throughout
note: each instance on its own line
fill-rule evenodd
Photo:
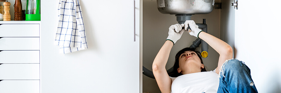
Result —
M 60 46 L 60 53 L 88 49 L 79 1 L 60 0 L 59 22 L 55 37 L 55 45 Z

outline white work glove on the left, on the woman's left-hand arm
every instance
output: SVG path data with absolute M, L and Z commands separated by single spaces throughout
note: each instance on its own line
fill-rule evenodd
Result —
M 184 32 L 183 26 L 184 26 L 184 24 L 171 25 L 169 27 L 168 37 L 166 40 L 172 41 L 175 45 L 177 40 L 179 40 L 180 37 L 183 35 L 183 32 Z

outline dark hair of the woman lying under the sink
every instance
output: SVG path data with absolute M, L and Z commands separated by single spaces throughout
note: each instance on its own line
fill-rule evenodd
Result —
M 170 77 L 178 77 L 180 75 L 183 75 L 181 73 L 177 72 L 177 68 L 179 68 L 179 57 L 181 54 L 183 54 L 183 52 L 185 51 L 194 51 L 198 57 L 200 58 L 201 63 L 203 64 L 202 58 L 201 58 L 201 53 L 199 51 L 196 51 L 195 48 L 183 48 L 182 50 L 180 50 L 177 54 L 176 54 L 176 60 L 173 66 L 173 71 L 171 71 L 169 74 Z M 201 72 L 206 71 L 205 67 L 201 69 Z

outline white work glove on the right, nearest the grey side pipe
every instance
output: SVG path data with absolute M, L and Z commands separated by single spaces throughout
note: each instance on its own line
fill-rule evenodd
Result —
M 203 30 L 199 29 L 198 25 L 196 25 L 193 20 L 186 20 L 184 22 L 184 29 L 187 30 L 188 27 L 190 27 L 191 32 L 188 32 L 188 31 L 186 31 L 186 32 L 188 32 L 192 36 L 199 38 L 199 33 Z

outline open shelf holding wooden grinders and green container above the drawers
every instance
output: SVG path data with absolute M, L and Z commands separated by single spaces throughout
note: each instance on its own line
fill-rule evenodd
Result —
M 40 0 L 9 1 L 0 0 L 0 21 L 41 20 Z

